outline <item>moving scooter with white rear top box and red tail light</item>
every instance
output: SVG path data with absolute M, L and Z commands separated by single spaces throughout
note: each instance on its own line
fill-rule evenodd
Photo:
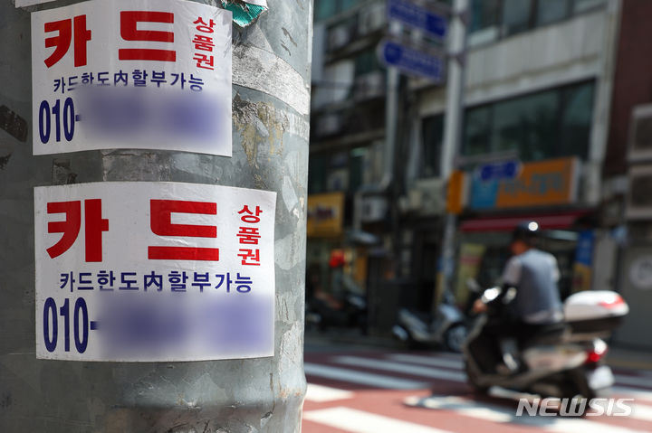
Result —
M 513 291 L 513 293 L 510 293 Z M 628 305 L 616 292 L 584 291 L 571 295 L 564 302 L 565 324 L 550 333 L 537 334 L 523 342 L 517 356 L 523 362 L 518 372 L 496 372 L 486 369 L 487 359 L 496 358 L 477 343 L 483 337 L 488 315 L 500 315 L 515 296 L 510 289 L 502 300 L 492 302 L 502 293 L 499 287 L 489 288 L 482 296 L 489 308 L 479 315 L 464 345 L 465 371 L 475 391 L 485 392 L 492 386 L 539 394 L 543 397 L 595 398 L 612 386 L 614 378 L 604 364 L 608 337 L 628 314 Z M 499 342 L 495 342 L 498 347 Z M 491 361 L 490 361 L 491 362 Z M 502 362 L 495 359 L 494 367 Z

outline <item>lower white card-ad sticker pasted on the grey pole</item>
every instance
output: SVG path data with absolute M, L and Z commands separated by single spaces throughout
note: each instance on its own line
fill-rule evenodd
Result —
M 273 356 L 276 193 L 116 182 L 34 188 L 36 356 Z

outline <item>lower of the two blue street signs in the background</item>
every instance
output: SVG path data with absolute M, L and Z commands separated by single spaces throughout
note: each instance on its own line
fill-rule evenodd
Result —
M 380 42 L 379 54 L 388 66 L 396 66 L 408 74 L 426 77 L 435 82 L 444 80 L 444 61 L 441 57 L 392 41 Z

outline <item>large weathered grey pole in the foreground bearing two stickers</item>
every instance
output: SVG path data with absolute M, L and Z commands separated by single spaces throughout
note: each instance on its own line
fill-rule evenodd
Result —
M 232 157 L 133 149 L 36 156 L 30 13 L 75 3 L 0 3 L 0 431 L 300 431 L 312 1 L 269 0 L 254 24 L 234 26 Z M 277 193 L 273 357 L 36 358 L 34 187 L 122 181 Z

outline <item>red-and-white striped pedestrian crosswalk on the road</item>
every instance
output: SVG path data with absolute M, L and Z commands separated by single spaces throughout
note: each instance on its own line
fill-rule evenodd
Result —
M 518 401 L 500 390 L 475 396 L 461 356 L 452 353 L 306 354 L 306 433 L 652 431 L 652 374 L 615 370 L 612 396 L 633 399 L 628 416 L 516 416 Z

